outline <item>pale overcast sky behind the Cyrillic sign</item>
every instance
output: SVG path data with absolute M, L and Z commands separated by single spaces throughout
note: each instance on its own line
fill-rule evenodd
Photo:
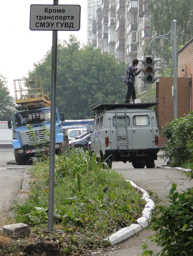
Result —
M 86 0 L 59 0 L 59 5 L 80 5 L 79 31 L 58 31 L 58 39 L 68 40 L 70 34 L 86 44 Z M 52 31 L 32 31 L 30 5 L 53 5 L 53 0 L 6 0 L 0 2 L 0 73 L 7 80 L 11 95 L 14 79 L 28 76 L 33 63 L 44 58 L 52 47 Z

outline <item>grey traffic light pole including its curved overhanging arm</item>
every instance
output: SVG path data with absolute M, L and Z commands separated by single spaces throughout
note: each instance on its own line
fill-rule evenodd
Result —
M 171 33 L 173 29 L 173 43 L 167 38 L 167 36 Z M 173 88 L 174 88 L 174 98 L 173 98 L 173 113 L 174 118 L 178 117 L 178 98 L 177 98 L 177 20 L 172 21 L 171 29 L 170 31 L 165 34 L 158 37 L 155 37 L 152 39 L 152 41 L 149 43 L 148 48 L 148 54 L 150 54 L 150 45 L 152 42 L 157 38 L 163 38 L 166 39 L 168 42 L 170 42 L 172 46 L 172 67 L 173 67 Z

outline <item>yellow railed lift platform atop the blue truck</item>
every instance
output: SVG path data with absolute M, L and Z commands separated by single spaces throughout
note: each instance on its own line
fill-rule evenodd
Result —
M 48 94 L 44 94 L 40 76 L 14 80 L 16 109 L 50 107 Z

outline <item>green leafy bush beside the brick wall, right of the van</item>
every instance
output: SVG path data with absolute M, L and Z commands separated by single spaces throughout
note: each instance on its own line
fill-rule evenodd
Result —
M 172 166 L 193 163 L 193 111 L 165 124 L 162 133 L 168 138 L 167 146 L 164 147 L 164 158 L 172 156 Z

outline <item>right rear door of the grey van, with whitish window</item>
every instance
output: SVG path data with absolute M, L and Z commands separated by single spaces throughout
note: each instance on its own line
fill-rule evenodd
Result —
M 153 129 L 151 112 L 131 113 L 132 147 L 153 148 Z

